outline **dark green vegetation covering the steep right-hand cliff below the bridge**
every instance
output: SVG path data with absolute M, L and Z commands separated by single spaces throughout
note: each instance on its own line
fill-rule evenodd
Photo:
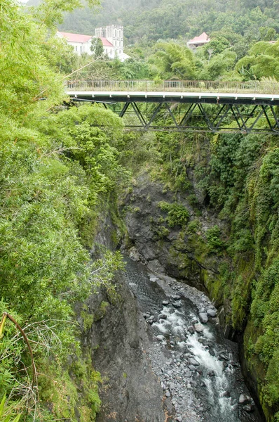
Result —
M 183 268 L 188 268 L 189 257 L 198 262 L 197 275 L 225 309 L 224 324 L 234 335 L 244 333 L 245 358 L 257 374 L 267 420 L 278 421 L 278 136 L 155 136 L 157 165 L 151 174 L 174 194 L 186 192 L 192 208 L 183 224 L 182 205 L 178 219 L 172 214 L 162 220 L 171 226 L 175 217 L 175 224 L 184 225 L 172 245 L 180 274 L 189 279 L 189 269 Z M 169 213 L 177 210 L 175 203 L 160 207 Z M 205 209 L 210 226 L 203 228 Z M 154 230 L 159 229 L 158 242 L 169 242 L 166 227 Z

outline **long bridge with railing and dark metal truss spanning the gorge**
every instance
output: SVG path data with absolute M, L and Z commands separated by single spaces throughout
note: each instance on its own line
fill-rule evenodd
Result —
M 128 128 L 279 135 L 279 82 L 82 80 L 66 91 L 111 108 Z

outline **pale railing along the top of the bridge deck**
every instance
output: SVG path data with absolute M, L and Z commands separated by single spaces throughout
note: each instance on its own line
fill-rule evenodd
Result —
M 179 91 L 179 92 L 231 92 L 279 94 L 279 82 L 259 81 L 114 81 L 86 79 L 67 81 L 69 91 Z

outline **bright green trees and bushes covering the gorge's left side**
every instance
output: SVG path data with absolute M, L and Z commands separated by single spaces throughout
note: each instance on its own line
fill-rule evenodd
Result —
M 46 1 L 34 14 L 13 0 L 0 6 L 0 314 L 13 315 L 34 354 L 33 360 L 6 321 L 0 339 L 5 421 L 18 412 L 22 421 L 92 421 L 100 406 L 100 376 L 80 345 L 89 316 L 75 309 L 103 286 L 114 298 L 111 279 L 121 257 L 107 252 L 92 264 L 86 247 L 93 245 L 100 210 L 129 175 L 118 163 L 121 120 L 98 106 L 61 106 L 64 75 L 56 58 L 64 50 L 51 31 L 78 4 Z M 107 132 L 95 127 L 103 120 Z

